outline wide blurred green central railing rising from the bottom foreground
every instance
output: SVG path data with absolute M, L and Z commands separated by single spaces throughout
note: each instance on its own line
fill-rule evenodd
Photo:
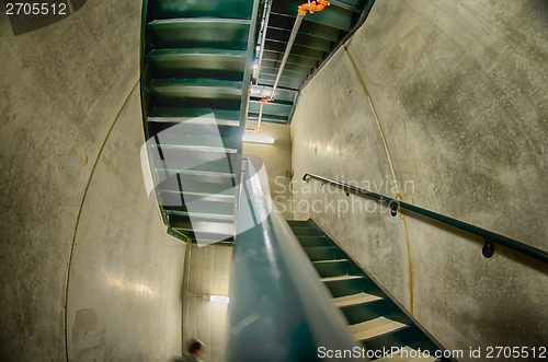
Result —
M 227 361 L 317 361 L 320 347 L 357 348 L 295 234 L 273 210 L 265 178 L 248 159 L 233 244 Z

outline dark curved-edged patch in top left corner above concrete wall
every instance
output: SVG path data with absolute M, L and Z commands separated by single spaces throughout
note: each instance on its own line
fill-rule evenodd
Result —
M 88 0 L 48 0 L 38 3 L 4 0 L 13 35 L 37 31 L 80 10 Z

